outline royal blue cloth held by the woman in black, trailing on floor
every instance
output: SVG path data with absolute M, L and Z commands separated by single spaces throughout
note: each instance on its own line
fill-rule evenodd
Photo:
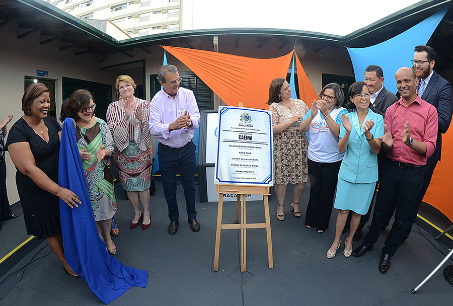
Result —
M 122 265 L 107 252 L 98 235 L 71 118 L 63 123 L 58 162 L 59 185 L 77 194 L 82 201 L 78 208 L 71 209 L 59 200 L 64 256 L 69 266 L 106 304 L 131 286 L 146 287 L 147 272 Z

